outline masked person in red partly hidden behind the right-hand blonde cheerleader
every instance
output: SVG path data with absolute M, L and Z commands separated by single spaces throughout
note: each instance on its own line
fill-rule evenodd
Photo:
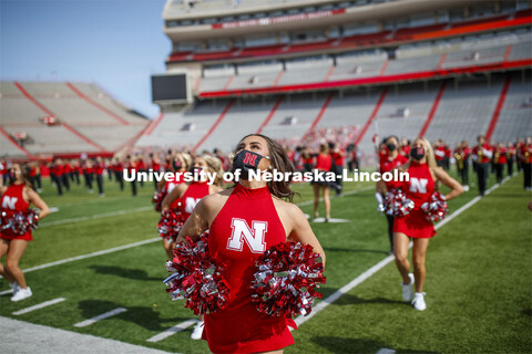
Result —
M 381 155 L 380 160 L 380 174 L 388 173 L 396 167 L 399 167 L 408 162 L 408 158 L 399 153 L 399 140 L 397 136 L 391 135 L 385 138 L 382 142 L 387 154 Z M 382 188 L 382 184 L 378 183 L 376 186 L 376 194 L 375 197 L 378 202 L 378 210 L 383 210 L 385 204 L 385 194 L 387 190 L 397 187 L 397 184 L 393 180 L 383 183 L 386 185 L 386 189 Z M 390 239 L 390 254 L 393 254 L 393 216 L 386 215 L 386 219 L 388 221 L 388 238 Z

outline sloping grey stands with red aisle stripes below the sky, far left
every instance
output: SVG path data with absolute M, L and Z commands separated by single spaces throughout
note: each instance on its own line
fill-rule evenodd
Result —
M 25 133 L 24 148 L 35 156 L 114 152 L 149 123 L 93 84 L 1 82 L 0 94 L 1 127 L 11 135 Z M 58 124 L 48 126 L 44 116 Z M 0 155 L 27 155 L 10 145 Z

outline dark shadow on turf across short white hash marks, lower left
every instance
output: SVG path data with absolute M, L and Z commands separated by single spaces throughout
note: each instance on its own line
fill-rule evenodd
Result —
M 161 326 L 163 323 L 171 323 L 172 325 L 190 320 L 190 317 L 174 317 L 174 319 L 161 319 L 158 312 L 154 311 L 151 306 L 123 306 L 120 303 L 115 303 L 106 300 L 84 300 L 80 301 L 78 308 L 81 310 L 84 319 L 92 319 L 99 314 L 112 311 L 116 308 L 125 308 L 127 311 L 122 312 L 112 319 L 120 319 L 122 321 L 133 322 L 146 330 L 162 332 L 167 330 L 167 326 Z M 106 320 L 102 320 L 106 321 Z

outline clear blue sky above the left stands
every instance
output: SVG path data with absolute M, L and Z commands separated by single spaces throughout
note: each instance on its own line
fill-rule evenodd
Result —
M 164 0 L 0 0 L 0 77 L 102 86 L 153 118 L 150 75 L 171 42 Z

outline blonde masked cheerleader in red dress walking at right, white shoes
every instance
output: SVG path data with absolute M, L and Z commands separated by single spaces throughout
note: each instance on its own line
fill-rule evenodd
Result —
M 427 309 L 424 302 L 423 283 L 426 277 L 424 258 L 429 240 L 436 236 L 434 226 L 427 221 L 421 205 L 429 201 L 437 181 L 451 188 L 446 200 L 450 200 L 463 192 L 458 180 L 451 178 L 441 167 L 437 167 L 434 155 L 430 143 L 424 138 L 413 142 L 410 152 L 409 163 L 398 167 L 401 171 L 408 171 L 409 181 L 403 183 L 400 188 L 407 198 L 415 202 L 413 209 L 402 218 L 396 218 L 393 222 L 393 246 L 396 266 L 402 277 L 402 299 L 410 301 L 412 298 L 412 284 L 416 287 L 412 305 L 416 310 Z M 410 272 L 408 261 L 409 238 L 413 239 L 412 263 L 413 274 Z

